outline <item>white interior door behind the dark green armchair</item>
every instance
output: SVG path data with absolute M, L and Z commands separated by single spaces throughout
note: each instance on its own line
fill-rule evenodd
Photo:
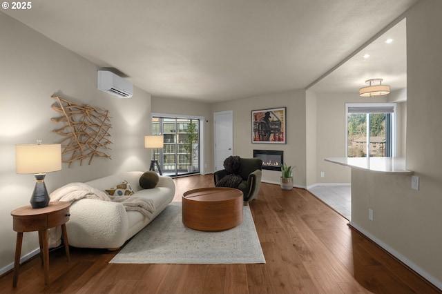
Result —
M 224 169 L 224 159 L 233 155 L 233 112 L 213 114 L 215 137 L 215 171 Z

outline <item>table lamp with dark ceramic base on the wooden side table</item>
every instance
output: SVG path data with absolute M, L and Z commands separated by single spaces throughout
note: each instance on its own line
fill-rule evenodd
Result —
M 41 140 L 37 140 L 37 144 L 15 145 L 15 169 L 18 174 L 35 175 L 37 182 L 30 197 L 32 208 L 48 206 L 44 177 L 46 173 L 61 170 L 61 144 L 41 144 Z

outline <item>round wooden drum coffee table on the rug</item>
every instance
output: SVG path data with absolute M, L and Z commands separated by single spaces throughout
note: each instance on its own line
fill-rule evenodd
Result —
M 182 195 L 182 223 L 198 231 L 225 231 L 242 223 L 243 195 L 233 188 L 200 188 Z

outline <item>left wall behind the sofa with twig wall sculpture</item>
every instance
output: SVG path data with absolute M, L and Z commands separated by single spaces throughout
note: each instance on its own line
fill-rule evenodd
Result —
M 29 205 L 33 175 L 15 173 L 15 144 L 36 139 L 55 143 L 61 136 L 52 117 L 51 95 L 77 104 L 110 110 L 112 159 L 94 158 L 89 166 L 63 164 L 46 176 L 49 193 L 68 182 L 84 182 L 123 170 L 147 170 L 150 154 L 144 135 L 150 130 L 151 96 L 135 88 L 131 99 L 117 99 L 97 90 L 97 66 L 0 12 L 0 273 L 12 266 L 16 233 L 10 212 Z M 25 233 L 22 256 L 38 248 L 36 232 Z

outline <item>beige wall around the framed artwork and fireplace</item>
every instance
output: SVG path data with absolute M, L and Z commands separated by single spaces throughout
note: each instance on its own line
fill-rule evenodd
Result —
M 306 186 L 305 90 L 292 90 L 213 104 L 213 112 L 233 111 L 233 155 L 253 157 L 253 149 L 284 150 L 284 161 L 294 168 L 294 184 Z M 287 144 L 252 144 L 251 111 L 287 107 Z M 279 184 L 281 173 L 262 170 L 262 181 Z

